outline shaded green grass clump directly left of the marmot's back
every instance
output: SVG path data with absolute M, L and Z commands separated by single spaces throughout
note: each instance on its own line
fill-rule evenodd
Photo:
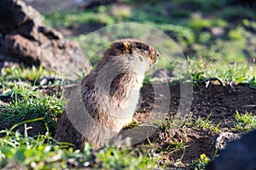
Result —
M 1 124 L 14 125 L 29 119 L 43 117 L 51 131 L 55 129 L 55 120 L 60 116 L 66 105 L 65 99 L 57 99 L 40 92 L 28 89 L 23 85 L 15 85 L 7 93 L 12 102 L 4 107 L 0 114 Z M 7 95 L 3 94 L 3 95 Z M 40 122 L 44 126 L 44 122 Z

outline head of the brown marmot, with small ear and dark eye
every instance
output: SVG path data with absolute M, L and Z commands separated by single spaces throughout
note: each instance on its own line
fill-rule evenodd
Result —
M 104 53 L 104 57 L 116 56 L 131 57 L 133 60 L 147 61 L 148 67 L 151 67 L 157 62 L 159 52 L 148 45 L 148 43 L 141 42 L 137 39 L 121 39 L 113 42 Z

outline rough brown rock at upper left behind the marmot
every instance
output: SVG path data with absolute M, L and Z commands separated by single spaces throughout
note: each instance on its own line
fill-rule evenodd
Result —
M 3 34 L 0 53 L 8 58 L 18 59 L 25 65 L 43 65 L 70 77 L 90 70 L 79 44 L 44 26 L 38 11 L 21 0 L 2 0 L 0 32 Z

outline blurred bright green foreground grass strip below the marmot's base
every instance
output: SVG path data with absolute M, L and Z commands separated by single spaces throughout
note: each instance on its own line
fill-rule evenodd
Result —
M 34 121 L 38 120 L 31 122 Z M 88 143 L 84 144 L 82 151 L 65 149 L 70 145 L 56 143 L 49 132 L 38 135 L 36 139 L 27 136 L 26 124 L 24 126 L 24 134 L 11 130 L 0 132 L 5 133 L 0 138 L 0 168 L 10 163 L 25 169 L 152 169 L 156 166 L 156 158 L 140 150 L 107 147 L 95 152 Z

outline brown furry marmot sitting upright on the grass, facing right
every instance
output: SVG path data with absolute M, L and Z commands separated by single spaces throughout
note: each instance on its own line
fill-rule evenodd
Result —
M 158 51 L 136 39 L 113 42 L 102 60 L 80 82 L 59 118 L 55 139 L 95 148 L 108 144 L 132 121 L 145 71 L 157 62 Z

